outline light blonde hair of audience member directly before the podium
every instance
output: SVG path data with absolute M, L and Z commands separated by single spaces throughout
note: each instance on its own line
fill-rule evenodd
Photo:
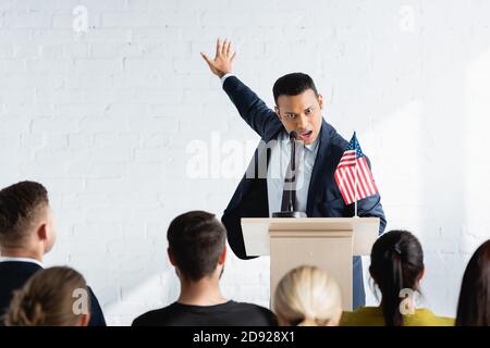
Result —
M 275 289 L 274 310 L 290 325 L 324 326 L 342 313 L 335 279 L 317 266 L 290 271 Z

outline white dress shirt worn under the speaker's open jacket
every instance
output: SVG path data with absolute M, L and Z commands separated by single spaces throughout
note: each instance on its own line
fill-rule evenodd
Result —
M 228 73 L 221 77 L 221 84 L 224 84 L 224 80 L 229 76 L 233 76 L 233 74 Z M 267 169 L 269 216 L 272 216 L 272 213 L 274 212 L 281 211 L 284 177 L 291 160 L 291 144 L 285 129 L 279 135 L 277 140 L 278 141 L 268 144 L 268 148 L 271 150 L 269 166 Z M 318 144 L 319 137 L 309 145 L 296 148 L 296 150 L 299 151 L 296 183 L 296 211 L 306 212 L 309 182 L 311 181 L 311 173 L 318 153 Z

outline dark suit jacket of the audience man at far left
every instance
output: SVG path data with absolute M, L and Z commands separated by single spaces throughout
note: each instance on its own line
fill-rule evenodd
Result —
M 9 309 L 13 291 L 23 287 L 30 276 L 40 270 L 42 268 L 34 262 L 0 262 L 0 325 L 2 322 L 1 318 Z M 106 319 L 97 297 L 90 288 L 88 288 L 88 293 L 90 294 L 90 322 L 88 325 L 106 326 Z

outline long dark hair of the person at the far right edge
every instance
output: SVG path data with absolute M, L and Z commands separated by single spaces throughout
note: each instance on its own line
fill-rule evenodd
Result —
M 457 301 L 456 326 L 490 325 L 490 239 L 466 266 Z

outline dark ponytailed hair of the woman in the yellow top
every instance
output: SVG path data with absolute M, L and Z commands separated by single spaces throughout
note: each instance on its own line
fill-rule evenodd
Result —
M 418 290 L 424 271 L 424 251 L 408 231 L 390 231 L 379 237 L 371 250 L 369 271 L 381 291 L 381 307 L 387 326 L 402 326 L 400 291 Z

